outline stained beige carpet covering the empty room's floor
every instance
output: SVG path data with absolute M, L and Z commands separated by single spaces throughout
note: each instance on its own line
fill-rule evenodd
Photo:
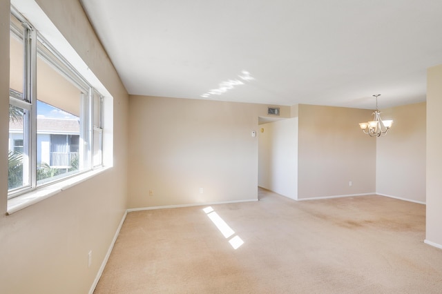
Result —
M 260 190 L 259 202 L 212 206 L 227 238 L 203 208 L 128 213 L 95 293 L 442 293 L 424 205 Z

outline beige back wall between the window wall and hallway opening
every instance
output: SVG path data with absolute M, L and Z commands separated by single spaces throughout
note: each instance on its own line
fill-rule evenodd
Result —
M 129 208 L 257 199 L 267 106 L 131 95 L 129 112 Z

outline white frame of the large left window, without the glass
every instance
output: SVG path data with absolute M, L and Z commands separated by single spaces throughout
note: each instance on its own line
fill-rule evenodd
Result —
M 70 63 L 62 57 L 55 48 L 50 46 L 50 43 L 44 39 L 39 32 L 32 27 L 32 25 L 13 7 L 11 6 L 11 14 L 14 15 L 21 23 L 23 23 L 24 35 L 23 37 L 23 95 L 10 90 L 10 105 L 22 108 L 25 111 L 23 116 L 23 186 L 8 190 L 8 199 L 12 199 L 23 193 L 37 190 L 41 187 L 48 187 L 70 179 L 81 176 L 90 170 L 102 167 L 102 160 L 99 164 L 93 164 L 94 140 L 93 130 L 99 130 L 99 152 L 103 155 L 103 96 L 91 86 L 84 77 L 70 66 Z M 14 30 L 12 24 L 10 31 L 18 33 Z M 20 36 L 18 36 L 20 37 Z M 45 48 L 55 56 L 55 59 L 45 54 L 44 50 L 39 50 L 37 43 L 41 43 Z M 38 52 L 38 53 L 37 53 Z M 78 88 L 84 91 L 81 98 L 81 122 L 80 122 L 80 168 L 79 173 L 75 175 L 68 175 L 50 182 L 37 183 L 37 54 L 40 58 L 44 58 L 46 62 L 50 62 L 55 66 L 64 77 L 75 84 Z M 93 126 L 93 94 L 98 93 L 100 97 L 99 121 L 100 126 Z

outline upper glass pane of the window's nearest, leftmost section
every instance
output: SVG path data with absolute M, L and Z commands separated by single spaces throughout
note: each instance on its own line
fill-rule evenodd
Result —
M 11 92 L 15 93 L 14 97 L 23 99 L 23 35 L 24 28 L 21 22 L 11 15 L 11 32 L 10 32 L 10 63 L 9 75 Z

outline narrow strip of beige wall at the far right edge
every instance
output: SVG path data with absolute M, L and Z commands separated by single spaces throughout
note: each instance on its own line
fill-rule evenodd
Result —
M 427 232 L 442 248 L 442 65 L 427 70 Z

